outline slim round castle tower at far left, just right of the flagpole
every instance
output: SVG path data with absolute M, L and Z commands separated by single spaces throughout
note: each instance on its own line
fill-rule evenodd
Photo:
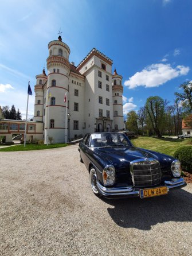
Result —
M 36 76 L 35 91 L 35 103 L 34 103 L 34 121 L 42 122 L 44 115 L 44 84 L 48 80 L 45 69 L 43 69 L 41 75 Z

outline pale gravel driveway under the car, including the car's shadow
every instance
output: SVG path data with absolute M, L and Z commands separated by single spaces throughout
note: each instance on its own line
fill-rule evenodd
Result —
M 101 200 L 77 148 L 0 153 L 0 255 L 192 255 L 192 184 Z

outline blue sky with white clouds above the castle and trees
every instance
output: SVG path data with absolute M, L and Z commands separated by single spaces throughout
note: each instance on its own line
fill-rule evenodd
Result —
M 113 60 L 123 76 L 124 114 L 149 96 L 174 102 L 174 92 L 192 80 L 191 0 L 3 1 L 0 15 L 0 106 L 15 105 L 33 117 L 36 75 L 48 43 L 62 41 L 78 65 L 93 47 Z

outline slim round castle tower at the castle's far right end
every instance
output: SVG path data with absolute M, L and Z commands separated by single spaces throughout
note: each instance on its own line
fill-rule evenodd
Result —
M 113 129 L 123 130 L 123 86 L 121 75 L 118 75 L 116 69 L 112 75 L 112 91 L 113 91 Z

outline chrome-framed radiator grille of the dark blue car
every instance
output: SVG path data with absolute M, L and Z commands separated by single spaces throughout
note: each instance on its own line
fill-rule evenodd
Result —
M 133 161 L 131 163 L 132 181 L 135 187 L 151 187 L 161 181 L 159 162 L 156 160 Z

